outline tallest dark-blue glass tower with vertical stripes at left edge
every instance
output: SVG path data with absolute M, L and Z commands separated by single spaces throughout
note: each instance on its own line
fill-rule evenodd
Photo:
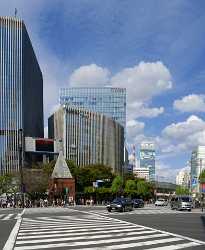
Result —
M 25 24 L 0 17 L 0 173 L 19 170 L 19 137 L 43 137 L 43 127 L 43 78 Z

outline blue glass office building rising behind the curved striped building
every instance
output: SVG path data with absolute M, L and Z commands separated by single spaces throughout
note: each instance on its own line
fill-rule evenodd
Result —
M 60 104 L 102 113 L 126 126 L 126 89 L 124 88 L 62 88 Z

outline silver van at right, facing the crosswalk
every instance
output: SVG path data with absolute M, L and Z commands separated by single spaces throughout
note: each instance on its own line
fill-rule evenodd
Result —
M 192 198 L 190 196 L 175 196 L 171 199 L 171 209 L 187 210 L 191 212 Z

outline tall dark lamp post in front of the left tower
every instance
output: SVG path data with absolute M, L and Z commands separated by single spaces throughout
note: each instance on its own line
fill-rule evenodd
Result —
M 23 183 L 23 130 L 19 129 L 18 132 L 19 142 L 19 170 L 20 170 L 20 185 L 22 192 L 22 207 L 24 208 L 24 183 Z

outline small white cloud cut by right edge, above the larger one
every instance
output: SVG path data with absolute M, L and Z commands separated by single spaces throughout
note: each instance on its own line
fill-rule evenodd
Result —
M 182 112 L 205 112 L 205 95 L 188 95 L 175 100 L 174 108 Z

